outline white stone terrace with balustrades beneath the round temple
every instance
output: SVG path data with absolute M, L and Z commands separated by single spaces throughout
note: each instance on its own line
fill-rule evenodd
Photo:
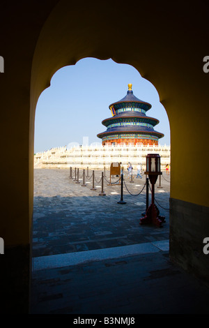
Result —
M 132 163 L 137 169 L 140 163 L 145 170 L 146 155 L 161 156 L 161 170 L 166 164 L 170 165 L 170 146 L 77 146 L 52 148 L 34 155 L 34 168 L 86 168 L 90 170 L 109 169 L 111 163 L 121 162 L 123 167 Z

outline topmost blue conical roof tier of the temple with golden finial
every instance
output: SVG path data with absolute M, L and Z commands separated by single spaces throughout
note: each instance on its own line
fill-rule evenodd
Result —
M 114 110 L 126 107 L 135 107 L 141 108 L 145 111 L 150 110 L 150 108 L 152 107 L 150 103 L 146 103 L 144 100 L 140 100 L 134 96 L 131 83 L 128 84 L 127 95 L 123 99 L 116 101 L 116 103 L 112 103 L 111 105 L 109 105 L 110 110 L 112 106 L 114 106 Z

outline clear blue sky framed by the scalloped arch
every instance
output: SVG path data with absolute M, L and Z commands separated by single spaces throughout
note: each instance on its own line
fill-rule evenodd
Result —
M 34 152 L 83 144 L 84 137 L 88 137 L 88 144 L 101 143 L 97 134 L 106 131 L 102 120 L 111 117 L 109 105 L 127 94 L 129 83 L 134 96 L 152 105 L 147 116 L 160 120 L 155 130 L 164 137 L 159 143 L 169 145 L 169 119 L 153 84 L 130 65 L 86 58 L 58 70 L 51 86 L 40 95 Z

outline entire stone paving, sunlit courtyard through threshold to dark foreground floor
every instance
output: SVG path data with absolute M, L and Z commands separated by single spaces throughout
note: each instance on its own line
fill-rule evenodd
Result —
M 163 172 L 155 185 L 155 204 L 165 216 L 158 228 L 139 225 L 145 175 L 131 182 L 125 172 L 126 204 L 118 204 L 121 186 L 108 185 L 109 171 L 105 195 L 101 171 L 95 170 L 94 191 L 92 171 L 86 186 L 69 175 L 34 170 L 31 313 L 208 313 L 206 286 L 169 260 L 170 176 Z

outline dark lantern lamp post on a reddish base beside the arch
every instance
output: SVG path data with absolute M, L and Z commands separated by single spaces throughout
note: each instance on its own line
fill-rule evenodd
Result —
M 165 221 L 164 216 L 160 216 L 160 211 L 155 205 L 155 183 L 157 181 L 158 175 L 161 175 L 160 171 L 160 155 L 159 154 L 148 154 L 146 156 L 146 172 L 148 174 L 150 184 L 152 185 L 152 202 L 146 214 L 143 218 L 140 218 L 140 224 L 154 224 L 158 227 L 162 226 L 162 223 Z

